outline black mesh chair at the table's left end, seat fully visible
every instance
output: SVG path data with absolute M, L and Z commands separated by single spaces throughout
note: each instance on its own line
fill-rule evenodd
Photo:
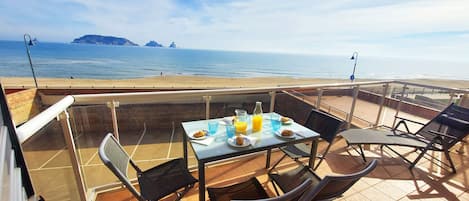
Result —
M 139 201 L 159 200 L 171 193 L 176 193 L 179 200 L 197 182 L 182 158 L 142 171 L 111 133 L 101 142 L 99 157 Z M 137 171 L 140 192 L 130 183 L 127 176 L 129 164 Z

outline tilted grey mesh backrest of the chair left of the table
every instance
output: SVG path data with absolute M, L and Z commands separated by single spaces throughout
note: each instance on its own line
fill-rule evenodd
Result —
M 140 193 L 130 183 L 127 176 L 127 169 L 130 163 L 130 157 L 124 148 L 117 142 L 112 133 L 108 133 L 99 146 L 99 157 L 114 175 L 132 192 L 132 194 L 142 200 Z

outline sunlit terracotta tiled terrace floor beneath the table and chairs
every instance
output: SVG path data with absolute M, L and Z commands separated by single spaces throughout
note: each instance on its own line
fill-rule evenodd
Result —
M 320 143 L 319 151 L 326 143 Z M 465 153 L 467 146 L 461 147 Z M 412 149 L 399 148 L 402 153 L 410 157 L 415 153 Z M 436 153 L 439 155 L 439 153 Z M 274 152 L 272 163 L 281 156 L 281 152 Z M 372 146 L 366 151 L 367 159 L 377 158 L 379 165 L 366 177 L 357 182 L 343 197 L 338 200 L 469 200 L 469 157 L 467 154 L 452 154 L 456 163 L 457 173 L 452 174 L 441 170 L 429 160 L 423 159 L 417 168 L 409 170 L 407 164 L 395 154 L 384 148 Z M 264 169 L 265 156 L 263 154 L 233 160 L 225 164 L 209 166 L 206 170 L 207 186 L 224 186 L 256 176 L 265 189 L 273 196 L 272 184 L 268 182 L 267 170 Z M 278 171 L 294 168 L 296 163 L 286 159 L 278 166 Z M 343 139 L 336 140 L 326 161 L 318 168 L 321 177 L 330 174 L 346 174 L 364 167 L 359 155 L 347 148 Z M 194 172 L 197 175 L 197 172 Z M 183 200 L 197 201 L 197 185 L 189 191 Z M 173 200 L 170 196 L 164 200 Z M 125 189 L 100 194 L 100 201 L 135 200 Z

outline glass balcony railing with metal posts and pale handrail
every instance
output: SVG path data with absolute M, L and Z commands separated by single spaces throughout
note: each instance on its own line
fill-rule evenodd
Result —
M 118 136 L 143 169 L 183 156 L 181 122 L 249 113 L 256 101 L 303 123 L 320 108 L 350 127 L 392 127 L 394 116 L 427 121 L 468 90 L 404 82 L 90 94 L 67 96 L 18 128 L 34 187 L 46 200 L 93 200 L 119 186 L 102 164 L 98 146 L 107 133 Z M 55 117 L 59 116 L 58 120 Z M 195 169 L 189 151 L 189 166 Z M 135 175 L 129 172 L 129 175 Z

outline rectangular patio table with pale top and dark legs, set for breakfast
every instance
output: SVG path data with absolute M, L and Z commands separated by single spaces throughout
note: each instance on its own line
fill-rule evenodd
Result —
M 250 126 L 248 126 L 247 136 L 255 138 L 255 144 L 251 144 L 247 147 L 233 147 L 226 141 L 226 129 L 225 126 L 219 125 L 218 131 L 213 135 L 215 140 L 209 145 L 202 145 L 196 142 L 190 141 L 190 145 L 194 150 L 195 157 L 198 162 L 198 173 L 199 173 L 199 200 L 205 200 L 205 164 L 218 160 L 224 160 L 232 157 L 242 156 L 245 154 L 251 154 L 261 151 L 267 151 L 266 157 L 266 168 L 270 166 L 270 152 L 271 149 L 287 146 L 289 144 L 296 144 L 302 142 L 312 142 L 311 156 L 309 158 L 309 166 L 314 167 L 314 159 L 316 157 L 317 139 L 319 134 L 293 122 L 290 125 L 282 125 L 282 129 L 290 129 L 295 131 L 294 138 L 282 138 L 274 134 L 271 124 L 270 117 L 271 113 L 263 114 L 263 126 L 260 132 L 253 133 Z M 185 134 L 183 135 L 183 149 L 184 159 L 187 164 L 187 141 L 189 135 L 199 130 L 206 130 L 208 121 L 216 121 L 220 119 L 210 120 L 198 120 L 183 122 L 182 127 L 184 128 Z M 212 136 L 210 136 L 212 137 Z

